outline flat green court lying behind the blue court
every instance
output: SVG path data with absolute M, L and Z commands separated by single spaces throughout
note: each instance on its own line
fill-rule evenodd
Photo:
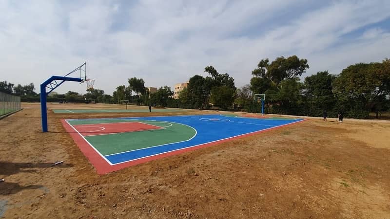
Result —
M 178 112 L 180 109 L 152 109 L 152 112 Z M 104 112 L 149 112 L 149 109 L 60 109 L 54 113 L 104 113 Z

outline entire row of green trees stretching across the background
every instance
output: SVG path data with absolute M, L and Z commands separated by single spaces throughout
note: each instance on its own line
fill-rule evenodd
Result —
M 213 66 L 207 66 L 204 72 L 209 76 L 190 77 L 178 99 L 173 98 L 174 92 L 168 86 L 150 93 L 142 78 L 133 77 L 128 79 L 127 86 L 117 86 L 113 95 L 99 89 L 86 90 L 85 94 L 53 91 L 47 100 L 113 104 L 128 100 L 146 106 L 261 112 L 254 94 L 265 93 L 265 113 L 272 114 L 321 116 L 326 110 L 334 117 L 342 112 L 347 117 L 367 118 L 374 112 L 379 118 L 382 112 L 390 110 L 390 59 L 354 64 L 339 74 L 317 72 L 301 81 L 300 76 L 308 69 L 307 59 L 281 56 L 273 61 L 261 59 L 252 71 L 250 83 L 239 89 L 228 73 L 218 73 Z M 33 83 L 14 86 L 0 82 L 0 91 L 20 95 L 22 101 L 39 101 L 34 90 Z

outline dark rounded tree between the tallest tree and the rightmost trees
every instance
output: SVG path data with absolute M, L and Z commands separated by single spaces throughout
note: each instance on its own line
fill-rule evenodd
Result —
M 333 82 L 336 76 L 327 71 L 318 72 L 305 78 L 304 95 L 307 115 L 321 116 L 323 110 L 333 110 L 336 99 L 333 95 Z

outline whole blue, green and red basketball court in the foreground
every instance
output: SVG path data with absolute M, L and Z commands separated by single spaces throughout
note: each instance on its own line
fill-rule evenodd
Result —
M 125 166 L 130 166 L 301 121 L 303 119 L 273 120 L 270 118 L 262 119 L 208 114 L 68 119 L 66 123 L 76 130 L 78 135 L 90 147 L 93 147 L 99 156 L 110 166 L 125 163 L 127 163 Z M 111 125 L 109 126 L 108 124 Z M 121 124 L 126 124 L 126 126 L 134 124 L 134 126 L 139 128 L 135 130 L 134 128 L 129 129 L 127 127 L 126 129 L 126 127 L 123 127 L 123 129 L 119 128 L 116 131 L 107 131 L 107 133 L 103 130 L 104 128 L 108 130 L 109 128 L 113 128 L 113 126 L 121 126 Z M 81 128 L 78 127 L 99 127 L 98 131 L 100 132 L 91 134 L 92 130 L 90 130 L 88 133 L 80 133 L 81 131 L 79 130 Z M 76 139 L 75 142 L 79 143 Z M 90 157 L 89 160 L 91 163 L 96 163 Z M 94 165 L 97 169 L 99 168 L 96 164 Z M 118 168 L 98 172 L 110 172 L 116 169 Z

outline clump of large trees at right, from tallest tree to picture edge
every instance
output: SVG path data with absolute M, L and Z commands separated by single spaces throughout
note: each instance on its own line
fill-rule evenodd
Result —
M 249 85 L 237 92 L 238 100 L 250 112 L 259 105 L 248 98 L 249 92 L 266 94 L 266 112 L 321 116 L 326 110 L 336 117 L 342 112 L 352 118 L 376 117 L 390 109 L 390 60 L 358 63 L 343 69 L 338 75 L 328 71 L 304 78 L 299 76 L 309 68 L 306 59 L 296 55 L 277 57 L 270 63 L 262 59 L 252 72 Z

